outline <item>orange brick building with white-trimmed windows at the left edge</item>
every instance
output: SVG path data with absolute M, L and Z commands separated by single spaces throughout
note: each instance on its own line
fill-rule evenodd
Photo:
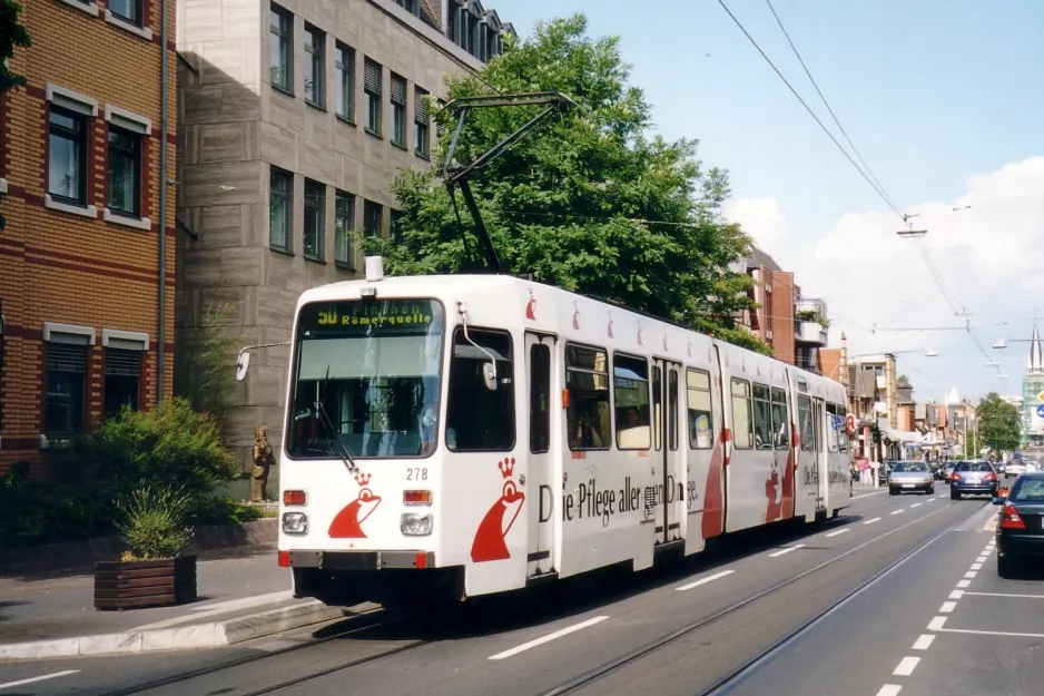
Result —
M 173 384 L 175 254 L 161 235 L 173 239 L 174 196 L 162 199 L 160 159 L 173 179 L 175 2 L 21 4 L 32 47 L 10 68 L 29 85 L 0 98 L 0 473 L 121 404 L 152 406 L 161 354 L 164 395 Z

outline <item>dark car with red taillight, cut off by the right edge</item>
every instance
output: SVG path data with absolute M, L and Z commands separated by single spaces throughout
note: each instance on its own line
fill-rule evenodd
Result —
M 1023 558 L 1044 557 L 1044 472 L 1020 476 L 1007 498 L 993 502 L 1003 506 L 997 522 L 997 575 L 1009 578 Z

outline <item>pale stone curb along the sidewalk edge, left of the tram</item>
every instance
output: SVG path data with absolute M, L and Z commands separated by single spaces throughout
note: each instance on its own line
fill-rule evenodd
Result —
M 224 621 L 0 645 L 0 660 L 214 648 L 270 636 L 284 630 L 304 628 L 313 624 L 367 614 L 378 608 L 380 605 L 372 602 L 354 607 L 327 607 L 322 601 L 312 600 Z

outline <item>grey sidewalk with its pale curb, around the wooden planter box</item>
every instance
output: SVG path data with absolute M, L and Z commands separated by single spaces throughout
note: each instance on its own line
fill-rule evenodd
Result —
M 358 614 L 292 597 L 270 548 L 200 558 L 189 605 L 98 611 L 93 576 L 0 579 L 0 660 L 230 645 Z

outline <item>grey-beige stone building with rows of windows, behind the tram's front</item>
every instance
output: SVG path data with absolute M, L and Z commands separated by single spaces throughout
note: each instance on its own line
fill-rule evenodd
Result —
M 244 344 L 287 341 L 303 291 L 357 276 L 358 234 L 395 235 L 390 185 L 437 137 L 425 95 L 511 26 L 475 0 L 185 2 L 178 20 L 178 320 L 229 307 Z M 239 384 L 244 470 L 256 425 L 282 443 L 287 360 L 257 352 Z

